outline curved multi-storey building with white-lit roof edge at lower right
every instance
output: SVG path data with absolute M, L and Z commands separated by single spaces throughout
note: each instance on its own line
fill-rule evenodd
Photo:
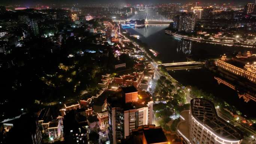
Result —
M 243 135 L 218 117 L 213 102 L 203 98 L 191 100 L 190 110 L 182 111 L 177 134 L 186 144 L 241 144 Z

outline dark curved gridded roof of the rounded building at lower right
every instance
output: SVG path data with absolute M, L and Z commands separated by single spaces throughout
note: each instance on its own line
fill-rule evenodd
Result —
M 217 115 L 213 102 L 207 99 L 192 99 L 191 114 L 196 120 L 207 126 L 207 128 L 220 137 L 228 140 L 243 139 L 243 135 L 237 128 Z

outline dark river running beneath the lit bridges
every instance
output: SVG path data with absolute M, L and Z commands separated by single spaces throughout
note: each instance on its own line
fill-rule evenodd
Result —
M 144 28 L 127 28 L 126 30 L 140 36 L 140 40 L 159 52 L 158 57 L 163 63 L 187 61 L 187 56 L 194 60 L 220 58 L 224 53 L 228 56 L 239 51 L 247 50 L 256 53 L 256 49 L 214 45 L 200 42 L 180 40 L 165 34 L 167 26 L 147 26 Z M 206 68 L 191 70 L 169 71 L 169 74 L 185 86 L 196 86 L 203 91 L 223 99 L 230 105 L 234 105 L 243 115 L 256 117 L 254 110 L 255 101 L 244 102 L 236 91 L 228 86 L 218 84 L 214 79 L 214 73 Z

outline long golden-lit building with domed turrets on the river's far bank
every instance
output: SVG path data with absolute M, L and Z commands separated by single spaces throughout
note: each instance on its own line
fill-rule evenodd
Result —
M 238 54 L 235 58 L 228 60 L 224 54 L 221 59 L 217 60 L 217 66 L 256 82 L 256 56 L 252 56 L 250 52 L 247 52 L 246 55 Z

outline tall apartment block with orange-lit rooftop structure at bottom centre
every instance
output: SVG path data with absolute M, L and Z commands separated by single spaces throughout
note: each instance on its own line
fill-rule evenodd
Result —
M 136 100 L 128 102 L 123 96 L 113 96 L 107 100 L 109 139 L 113 144 L 121 143 L 138 126 L 152 125 L 153 101 L 150 96 L 138 96 Z

